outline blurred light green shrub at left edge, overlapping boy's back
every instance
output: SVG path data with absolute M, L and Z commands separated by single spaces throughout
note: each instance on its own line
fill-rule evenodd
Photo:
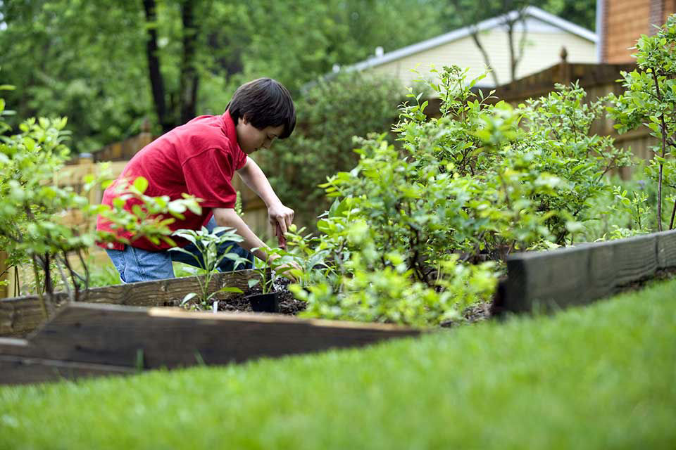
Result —
M 3 110 L 4 101 L 0 99 L 0 113 Z M 168 239 L 165 235 L 170 233 L 168 224 L 175 220 L 173 217 L 182 217 L 188 208 L 194 212 L 200 208 L 196 199 L 188 196 L 170 201 L 168 197 L 144 195 L 148 182 L 142 177 L 126 187 L 120 184 L 125 190 L 122 199 L 133 197 L 139 203 L 132 211 L 135 215 L 124 210 L 123 200 L 116 201 L 113 208 L 89 203 L 87 192 L 100 184 L 105 174 L 87 176 L 80 193 L 71 186 L 61 186 L 61 175 L 68 172 L 65 161 L 70 153 L 63 143 L 69 135 L 64 130 L 65 124 L 65 118 L 32 118 L 20 124 L 20 133 L 3 136 L 0 141 L 0 172 L 4 174 L 0 179 L 0 248 L 11 255 L 10 264 L 32 266 L 41 298 L 43 289 L 49 296 L 53 292 L 52 270 L 56 266 L 71 299 L 77 300 L 80 289 L 89 283 L 83 252 L 96 240 L 121 239 L 113 233 L 97 233 L 93 228 L 75 223 L 73 212 L 82 214 L 84 224 L 92 224 L 91 219 L 101 214 L 111 221 L 113 228 L 134 231 L 137 237 L 158 243 Z M 9 129 L 6 124 L 2 127 Z M 75 271 L 69 254 L 79 259 L 84 274 Z M 39 275 L 40 271 L 44 278 Z

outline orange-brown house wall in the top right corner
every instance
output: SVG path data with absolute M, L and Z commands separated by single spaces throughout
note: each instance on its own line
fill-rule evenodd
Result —
M 631 47 L 641 34 L 654 34 L 676 13 L 676 0 L 597 0 L 596 30 L 599 30 L 599 62 L 633 63 Z

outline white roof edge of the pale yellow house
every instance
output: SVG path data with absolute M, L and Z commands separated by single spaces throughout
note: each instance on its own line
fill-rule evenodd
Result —
M 434 47 L 447 44 L 449 42 L 456 41 L 458 39 L 462 39 L 463 37 L 468 37 L 472 34 L 474 30 L 482 32 L 490 30 L 495 27 L 499 27 L 504 23 L 505 20 L 515 20 L 516 18 L 518 18 L 518 14 L 519 14 L 518 11 L 511 11 L 510 13 L 507 13 L 505 15 L 499 15 L 491 19 L 483 20 L 482 22 L 477 23 L 476 25 L 469 25 L 467 27 L 463 27 L 458 30 L 453 30 L 446 34 L 441 34 L 437 37 L 433 37 L 432 39 L 427 39 L 426 41 L 420 41 L 418 42 L 418 44 L 413 44 L 410 46 L 403 47 L 402 49 L 384 53 L 382 56 L 368 58 L 368 60 L 363 60 L 361 61 L 361 63 L 353 64 L 346 69 L 364 70 L 385 63 L 389 63 L 390 61 L 393 60 L 405 58 L 406 56 L 411 56 L 414 55 L 415 53 L 420 53 L 428 49 L 433 49 Z M 582 37 L 583 39 L 587 39 L 588 41 L 592 41 L 594 43 L 598 41 L 598 37 L 594 32 L 591 32 L 586 28 L 580 27 L 579 25 L 575 25 L 574 23 L 568 22 L 568 20 L 564 20 L 560 17 L 557 17 L 556 15 L 547 13 L 546 11 L 542 11 L 542 9 L 537 8 L 535 6 L 527 6 L 524 9 L 524 15 L 526 18 L 533 18 L 539 20 L 540 22 L 546 25 L 558 28 L 559 30 L 570 32 L 571 34 L 575 34 L 579 37 Z

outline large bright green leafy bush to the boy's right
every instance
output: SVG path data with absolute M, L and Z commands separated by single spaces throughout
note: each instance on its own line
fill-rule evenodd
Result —
M 579 86 L 558 86 L 513 110 L 475 94 L 478 79 L 466 73 L 444 68 L 430 84 L 442 117 L 427 117 L 427 102 L 409 94 L 413 104 L 402 105 L 394 128 L 401 148 L 384 135 L 361 139 L 358 165 L 323 185 L 335 198 L 313 240 L 324 278 L 294 288 L 309 302 L 306 314 L 452 319 L 489 298 L 494 262 L 572 243 L 592 219 L 590 200 L 611 191 L 604 175 L 627 164 L 628 153 L 588 135 L 601 101 L 584 103 Z

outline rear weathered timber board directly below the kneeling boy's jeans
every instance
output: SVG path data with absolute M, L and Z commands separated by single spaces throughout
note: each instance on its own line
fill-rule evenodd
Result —
M 258 276 L 251 270 L 215 274 L 209 288 L 211 292 L 225 286 L 246 291 L 249 279 Z M 204 277 L 202 277 L 204 279 Z M 169 278 L 158 281 L 144 281 L 121 285 L 104 286 L 85 290 L 80 300 L 89 303 L 125 304 L 130 306 L 176 306 L 188 293 L 199 293 L 199 281 L 196 276 Z M 235 293 L 219 293 L 215 300 L 227 299 Z M 56 293 L 54 301 L 49 302 L 49 314 L 68 302 L 68 295 Z M 0 336 L 24 336 L 35 330 L 45 321 L 42 307 L 37 296 L 13 297 L 0 300 Z

